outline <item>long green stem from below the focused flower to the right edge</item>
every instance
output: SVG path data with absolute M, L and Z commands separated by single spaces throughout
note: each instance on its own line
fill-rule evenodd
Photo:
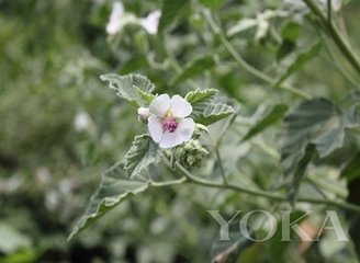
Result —
M 283 195 L 279 194 L 273 194 L 269 192 L 265 192 L 261 190 L 251 190 L 248 187 L 243 187 L 238 185 L 233 185 L 233 184 L 221 184 L 221 183 L 214 183 L 207 180 L 203 180 L 200 178 L 195 178 L 185 168 L 183 168 L 180 163 L 176 163 L 176 167 L 183 173 L 183 175 L 188 179 L 188 182 L 206 186 L 206 187 L 212 187 L 212 188 L 224 188 L 224 190 L 233 190 L 236 192 L 249 194 L 249 195 L 255 195 L 255 196 L 260 196 L 260 197 L 266 197 L 269 199 L 274 199 L 274 201 L 282 201 L 286 202 L 288 198 Z M 297 199 L 297 202 L 304 202 L 304 203 L 311 203 L 311 204 L 323 204 L 327 206 L 336 206 L 340 207 L 347 210 L 352 210 L 356 213 L 360 214 L 360 206 L 357 205 L 351 205 L 348 203 L 339 202 L 339 201 L 331 201 L 331 199 L 318 199 L 318 198 L 311 198 L 311 197 L 301 197 Z

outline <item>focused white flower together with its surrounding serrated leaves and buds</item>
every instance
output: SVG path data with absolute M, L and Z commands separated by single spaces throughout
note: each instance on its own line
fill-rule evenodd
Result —
M 137 110 L 144 134 L 135 136 L 123 160 L 103 174 L 99 191 L 69 238 L 128 195 L 143 192 L 150 185 L 178 183 L 154 182 L 148 172 L 150 164 L 164 161 L 170 169 L 200 167 L 209 151 L 199 138 L 209 133 L 207 125 L 234 113 L 232 106 L 215 102 L 215 89 L 195 90 L 185 95 L 154 94 L 155 84 L 140 75 L 103 75 L 101 80 L 135 107 L 134 118 Z M 108 196 L 109 188 L 114 185 L 119 185 L 114 188 L 117 194 L 113 192 Z

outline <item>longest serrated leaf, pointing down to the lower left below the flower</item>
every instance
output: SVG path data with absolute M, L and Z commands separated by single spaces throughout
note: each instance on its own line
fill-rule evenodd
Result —
M 72 228 L 68 240 L 88 228 L 125 198 L 144 192 L 148 188 L 149 183 L 150 180 L 143 174 L 130 180 L 122 168 L 122 162 L 114 164 L 102 174 L 97 193 L 91 197 L 86 213 Z

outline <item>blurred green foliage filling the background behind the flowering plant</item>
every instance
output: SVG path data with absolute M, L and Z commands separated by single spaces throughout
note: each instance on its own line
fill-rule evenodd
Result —
M 153 190 L 66 241 L 98 186 L 99 174 L 123 157 L 134 135 L 144 133 L 135 121 L 135 108 L 119 100 L 99 76 L 140 72 L 156 83 L 159 93 L 184 95 L 193 87 L 220 89 L 234 105 L 241 105 L 236 106 L 239 117 L 223 139 L 224 167 L 234 182 L 269 188 L 281 178 L 278 130 L 269 129 L 240 146 L 234 141 L 240 140 L 267 106 L 293 106 L 299 98 L 243 70 L 210 30 L 201 10 L 212 9 L 215 21 L 228 32 L 241 19 L 282 9 L 284 2 L 289 1 L 192 1 L 165 34 L 148 35 L 131 25 L 109 36 L 105 25 L 111 1 L 0 0 L 0 262 L 210 261 L 218 226 L 206 210 L 230 216 L 238 209 L 267 208 L 266 199 L 190 185 Z M 162 1 L 124 0 L 123 4 L 126 12 L 143 18 L 161 9 Z M 350 1 L 339 16 L 355 43 L 360 41 L 359 10 L 359 2 Z M 269 31 L 244 30 L 229 39 L 250 65 L 275 77 L 292 53 L 319 39 L 313 22 L 302 18 L 290 28 L 300 31 L 295 46 L 289 54 L 279 54 L 283 52 L 281 30 L 293 21 L 291 15 L 273 18 Z M 352 87 L 324 46 L 359 82 L 330 43 L 323 43 L 291 82 L 313 95 L 340 101 Z M 203 57 L 211 62 L 202 64 L 199 73 L 177 80 L 187 65 Z M 214 137 L 223 125 L 212 126 Z M 199 173 L 216 171 L 210 158 Z M 329 172 L 335 175 L 328 176 Z M 338 170 L 324 165 L 314 174 L 333 184 Z M 344 183 L 335 187 L 346 195 Z M 326 244 L 312 245 L 300 254 L 296 242 L 284 248 L 258 243 L 246 251 L 241 262 L 356 262 L 351 243 Z

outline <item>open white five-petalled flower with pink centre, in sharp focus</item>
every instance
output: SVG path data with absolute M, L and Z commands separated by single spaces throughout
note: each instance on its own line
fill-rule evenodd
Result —
M 192 106 L 180 95 L 159 95 L 149 105 L 148 130 L 160 148 L 171 148 L 191 139 L 195 128 Z

